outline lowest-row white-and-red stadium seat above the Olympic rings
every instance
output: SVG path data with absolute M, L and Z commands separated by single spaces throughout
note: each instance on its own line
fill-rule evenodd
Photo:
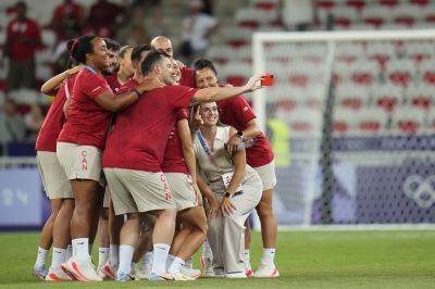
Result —
M 425 127 L 425 112 L 418 108 L 401 106 L 393 114 L 393 131 L 414 135 Z

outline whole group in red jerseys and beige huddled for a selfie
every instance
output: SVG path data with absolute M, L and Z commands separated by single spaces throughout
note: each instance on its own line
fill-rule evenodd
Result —
M 263 75 L 243 87 L 221 86 L 210 60 L 185 67 L 165 37 L 121 48 L 87 35 L 67 48 L 67 70 L 41 87 L 55 95 L 36 141 L 52 214 L 34 275 L 51 281 L 277 277 L 274 155 L 241 96 L 261 89 Z M 247 139 L 256 141 L 245 149 Z M 252 209 L 263 240 L 256 272 Z M 202 273 L 191 266 L 200 247 Z

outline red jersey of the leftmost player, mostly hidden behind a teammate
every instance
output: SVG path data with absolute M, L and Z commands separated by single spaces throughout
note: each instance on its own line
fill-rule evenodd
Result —
M 36 139 L 35 150 L 55 152 L 55 144 L 63 124 L 66 122 L 63 114 L 63 104 L 66 101 L 66 87 L 70 93 L 73 91 L 75 78 L 77 74 L 73 74 L 55 95 L 53 103 L 44 121 L 38 138 Z

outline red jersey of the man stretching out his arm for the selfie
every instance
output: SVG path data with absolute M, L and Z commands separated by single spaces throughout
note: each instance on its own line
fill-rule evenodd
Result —
M 198 91 L 183 86 L 165 86 L 142 95 L 117 113 L 102 155 L 103 167 L 161 172 L 163 148 L 175 125 L 179 109 L 186 109 Z

